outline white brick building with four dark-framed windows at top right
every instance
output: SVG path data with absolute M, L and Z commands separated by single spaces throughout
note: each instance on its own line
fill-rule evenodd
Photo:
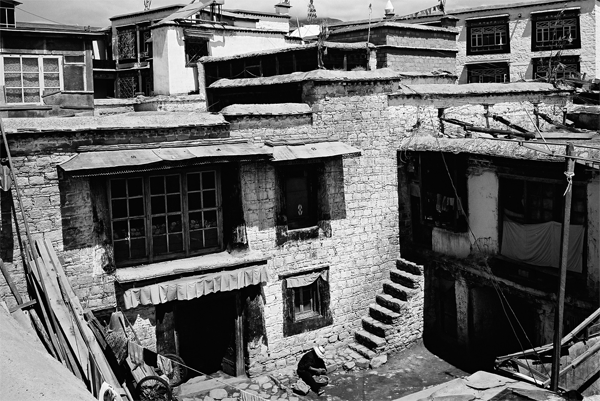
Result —
M 600 76 L 600 5 L 596 0 L 535 0 L 448 9 L 402 22 L 456 24 L 458 82 Z

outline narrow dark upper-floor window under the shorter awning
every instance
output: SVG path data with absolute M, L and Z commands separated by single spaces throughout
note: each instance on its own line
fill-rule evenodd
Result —
M 317 225 L 318 166 L 290 166 L 282 169 L 281 212 L 289 230 Z

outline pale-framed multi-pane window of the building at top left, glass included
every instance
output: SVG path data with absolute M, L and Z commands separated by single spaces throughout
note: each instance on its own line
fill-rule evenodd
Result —
M 42 96 L 63 87 L 59 57 L 4 56 L 7 103 L 41 103 Z

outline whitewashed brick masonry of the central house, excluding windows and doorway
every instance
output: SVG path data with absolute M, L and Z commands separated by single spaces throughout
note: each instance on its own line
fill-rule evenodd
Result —
M 174 317 L 173 302 L 125 309 L 128 290 L 252 267 L 265 268 L 268 277 L 229 291 L 237 294 L 238 318 L 232 319 L 239 324 L 235 346 L 238 365 L 241 360 L 243 366 L 236 367 L 238 372 L 258 375 L 291 366 L 314 343 L 329 350 L 354 345 L 369 357 L 405 347 L 422 335 L 424 287 L 422 267 L 399 259 L 399 235 L 410 219 L 406 210 L 399 210 L 399 193 L 406 191 L 398 186 L 401 142 L 438 128 L 439 110 L 454 118 L 469 115 L 485 121 L 482 99 L 528 126 L 525 109 L 531 113 L 535 103 L 559 115 L 568 93 L 544 84 L 488 87 L 485 93 L 469 85 L 460 93 L 448 89 L 452 85 L 400 89 L 401 78 L 378 71 L 345 74 L 345 81 L 321 77 L 298 83 L 304 103 L 231 105 L 216 114 L 139 112 L 8 120 L 10 149 L 33 234 L 52 241 L 85 307 L 98 315 L 117 306 L 124 309 L 143 345 L 152 349 L 182 351 L 177 341 L 183 344 L 185 333 L 177 334 L 180 326 L 174 322 L 181 317 Z M 212 90 L 217 93 L 219 88 Z M 440 106 L 431 99 L 446 103 Z M 450 128 L 446 132 L 453 134 Z M 281 165 L 269 157 L 242 154 L 200 159 L 205 165 L 164 163 L 150 172 L 189 173 L 211 166 L 220 171 L 224 202 L 221 249 L 154 264 L 117 266 L 107 194 L 110 179 L 146 173 L 124 168 L 86 174 L 57 167 L 91 152 L 108 155 L 206 144 L 264 151 L 278 146 L 316 148 L 319 143 L 337 146 L 338 151 L 309 160 L 318 172 L 319 216 L 316 226 L 308 228 L 292 229 L 281 216 L 285 172 L 306 160 Z M 1 256 L 25 294 L 10 196 L 2 192 Z M 321 275 L 319 295 L 312 295 L 319 303 L 318 316 L 295 321 L 290 279 L 315 273 Z M 4 281 L 0 291 L 13 305 Z M 181 312 L 184 309 L 177 313 L 190 313 Z M 213 324 L 202 317 L 184 318 L 196 321 L 199 332 L 211 330 Z

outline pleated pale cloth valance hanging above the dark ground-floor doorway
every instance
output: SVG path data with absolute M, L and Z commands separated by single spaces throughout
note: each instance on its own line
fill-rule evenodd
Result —
M 266 283 L 266 265 L 185 277 L 140 288 L 123 294 L 125 309 L 139 305 L 158 305 L 169 301 L 187 301 L 214 292 L 239 290 L 249 285 Z

